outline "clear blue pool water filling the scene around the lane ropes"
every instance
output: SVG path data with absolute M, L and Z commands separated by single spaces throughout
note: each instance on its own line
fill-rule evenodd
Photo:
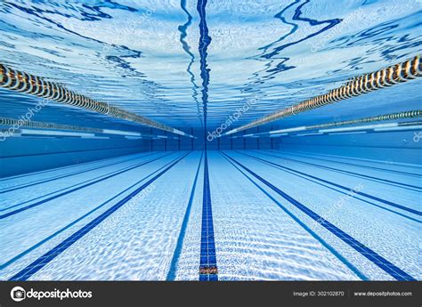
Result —
M 420 123 L 207 141 L 250 101 L 225 132 L 421 53 L 421 17 L 417 0 L 2 1 L 0 63 L 195 138 L 49 101 L 31 120 L 120 134 L 0 141 L 0 279 L 422 279 Z M 233 135 L 418 110 L 421 82 Z M 0 87 L 0 117 L 40 100 Z

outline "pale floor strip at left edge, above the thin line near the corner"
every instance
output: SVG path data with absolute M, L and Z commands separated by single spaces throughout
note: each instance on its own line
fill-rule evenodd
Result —
M 160 158 L 125 174 L 97 182 L 93 186 L 78 190 L 76 193 L 55 198 L 43 206 L 33 207 L 30 210 L 1 220 L 0 241 L 3 250 L 0 255 L 0 263 L 7 263 L 17 254 L 23 253 L 30 246 L 68 225 L 69 222 L 75 221 L 96 206 L 114 198 L 122 190 L 126 190 L 135 182 L 139 182 L 142 178 L 156 172 L 162 166 L 174 161 L 175 158 L 180 158 L 182 154 L 182 152 L 174 153 L 172 156 Z M 113 199 L 111 204 L 123 197 L 124 195 L 120 195 L 117 199 Z M 110 204 L 106 208 L 108 206 Z M 85 221 L 87 220 L 81 222 Z

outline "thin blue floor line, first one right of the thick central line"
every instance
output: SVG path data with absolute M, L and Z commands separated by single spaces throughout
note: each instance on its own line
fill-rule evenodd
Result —
M 222 154 L 222 152 L 220 152 L 220 154 Z M 222 154 L 223 156 L 223 154 Z M 345 259 L 344 256 L 342 256 L 341 254 L 339 254 L 337 252 L 337 250 L 333 247 L 330 246 L 329 243 L 327 243 L 323 238 L 321 238 L 319 235 L 316 234 L 316 232 L 314 232 L 312 229 L 310 229 L 304 222 L 302 222 L 295 214 L 292 214 L 290 211 L 288 211 L 288 208 L 286 208 L 285 206 L 281 205 L 280 202 L 273 198 L 272 195 L 270 193 L 268 193 L 266 190 L 264 190 L 262 187 L 260 187 L 256 182 L 254 182 L 251 178 L 250 175 L 245 174 L 245 172 L 243 172 L 241 169 L 239 169 L 238 166 L 234 165 L 233 162 L 231 162 L 231 160 L 229 160 L 228 158 L 224 157 L 230 164 L 231 166 L 235 167 L 241 174 L 243 174 L 246 178 L 248 178 L 249 182 L 252 182 L 256 188 L 258 188 L 259 190 L 261 190 L 268 198 L 270 198 L 277 206 L 280 206 L 280 209 L 284 211 L 284 213 L 288 214 L 289 217 L 291 217 L 295 222 L 297 222 L 304 230 L 306 230 L 313 238 L 317 239 L 322 246 L 324 246 L 325 248 L 327 248 L 329 250 L 329 252 L 331 254 L 334 254 L 334 256 L 337 257 L 337 259 L 341 262 L 344 263 L 345 266 L 347 268 L 349 268 L 351 271 L 353 271 L 353 273 L 356 274 L 356 276 L 358 276 L 360 279 L 362 280 L 369 280 L 368 277 L 366 277 L 361 271 L 359 271 L 358 268 L 356 268 L 353 263 L 350 263 L 347 259 Z

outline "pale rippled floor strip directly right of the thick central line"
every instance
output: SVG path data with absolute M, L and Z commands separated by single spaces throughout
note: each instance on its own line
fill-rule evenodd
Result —
M 360 279 L 219 152 L 208 156 L 219 280 Z

